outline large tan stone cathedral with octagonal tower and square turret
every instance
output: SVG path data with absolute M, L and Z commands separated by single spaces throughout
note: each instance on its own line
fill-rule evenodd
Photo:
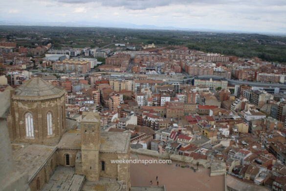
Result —
M 93 112 L 83 113 L 80 128 L 69 127 L 65 90 L 41 78 L 5 92 L 10 92 L 11 105 L 1 132 L 9 134 L 13 170 L 31 191 L 81 191 L 85 185 L 94 190 L 130 189 L 130 164 L 111 163 L 130 158 L 130 133 L 101 132 L 99 114 Z M 11 163 L 9 157 L 1 161 L 1 166 Z M 6 184 L 0 190 L 11 189 L 9 181 Z

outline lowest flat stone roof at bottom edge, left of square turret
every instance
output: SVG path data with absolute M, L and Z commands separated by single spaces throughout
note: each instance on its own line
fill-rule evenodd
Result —
M 81 191 L 85 176 L 74 172 L 73 167 L 57 167 L 41 191 Z

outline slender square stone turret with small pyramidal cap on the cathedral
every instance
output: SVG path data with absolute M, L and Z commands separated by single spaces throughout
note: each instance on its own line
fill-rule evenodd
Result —
M 98 181 L 100 174 L 100 121 L 88 112 L 81 121 L 82 172 L 87 180 Z

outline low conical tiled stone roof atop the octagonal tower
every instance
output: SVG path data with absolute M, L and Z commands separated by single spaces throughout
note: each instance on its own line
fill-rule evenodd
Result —
M 40 77 L 34 77 L 23 83 L 21 86 L 15 89 L 16 97 L 28 96 L 28 97 L 58 97 L 63 95 L 65 90 L 63 88 L 53 86 L 49 82 L 43 80 Z

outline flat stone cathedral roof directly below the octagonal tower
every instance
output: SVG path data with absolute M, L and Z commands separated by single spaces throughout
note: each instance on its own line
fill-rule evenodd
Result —
M 15 150 L 15 149 L 16 150 Z M 35 174 L 40 170 L 45 161 L 56 151 L 56 146 L 46 146 L 40 144 L 19 144 L 13 146 L 13 158 L 16 169 L 21 173 L 28 173 L 28 182 L 30 182 Z

